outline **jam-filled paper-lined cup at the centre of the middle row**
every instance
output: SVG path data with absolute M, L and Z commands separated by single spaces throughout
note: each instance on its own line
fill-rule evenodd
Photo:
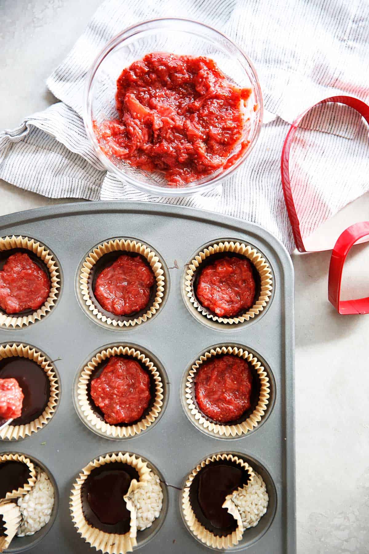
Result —
M 129 406 L 116 398 L 116 387 L 125 386 L 123 374 L 130 386 L 120 389 L 119 399 L 129 395 Z M 102 381 L 112 394 L 102 396 Z M 74 381 L 77 414 L 86 427 L 109 439 L 129 439 L 147 432 L 162 417 L 168 396 L 167 373 L 158 358 L 133 344 L 112 344 L 96 351 Z

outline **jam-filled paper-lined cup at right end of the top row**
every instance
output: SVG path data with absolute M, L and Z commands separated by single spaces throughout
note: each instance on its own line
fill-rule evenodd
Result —
M 273 294 L 272 269 L 252 245 L 219 239 L 191 256 L 181 291 L 200 323 L 220 331 L 240 329 L 266 311 Z

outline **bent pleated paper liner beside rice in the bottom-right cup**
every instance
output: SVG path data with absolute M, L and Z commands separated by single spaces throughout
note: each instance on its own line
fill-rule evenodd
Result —
M 232 461 L 233 463 L 240 465 L 250 475 L 248 483 L 251 483 L 254 473 L 250 465 L 246 464 L 245 461 L 237 458 L 237 456 L 233 456 L 232 454 L 214 454 L 210 456 L 210 458 L 202 460 L 201 463 L 199 465 L 196 465 L 196 468 L 194 468 L 188 475 L 185 486 L 182 490 L 182 510 L 185 520 L 188 523 L 193 535 L 195 537 L 198 537 L 201 542 L 204 542 L 207 546 L 211 548 L 219 548 L 219 550 L 222 550 L 223 548 L 236 546 L 238 542 L 240 542 L 243 535 L 241 516 L 235 504 L 233 504 L 233 502 L 230 500 L 230 495 L 226 497 L 223 507 L 225 507 L 228 512 L 230 512 L 230 514 L 235 517 L 237 521 L 237 529 L 233 531 L 230 535 L 226 535 L 225 537 L 217 537 L 216 535 L 212 534 L 211 531 L 205 529 L 205 527 L 197 519 L 190 502 L 190 486 L 193 483 L 195 476 L 199 473 L 199 471 L 201 471 L 202 468 L 205 468 L 206 465 L 219 460 Z

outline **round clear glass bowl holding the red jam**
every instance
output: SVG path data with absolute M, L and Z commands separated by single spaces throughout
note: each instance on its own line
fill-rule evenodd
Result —
M 117 79 L 124 68 L 150 52 L 212 58 L 232 83 L 253 90 L 249 105 L 255 108 L 251 110 L 251 126 L 247 128 L 250 144 L 232 166 L 192 183 L 173 187 L 168 185 L 161 173 L 140 170 L 118 158 L 108 157 L 103 152 L 93 131 L 93 121 L 99 125 L 105 119 L 118 116 L 115 105 Z M 261 130 L 263 100 L 252 62 L 224 34 L 189 19 L 153 19 L 124 30 L 97 56 L 86 79 L 83 116 L 87 136 L 98 158 L 120 181 L 156 196 L 189 196 L 213 188 L 246 160 Z

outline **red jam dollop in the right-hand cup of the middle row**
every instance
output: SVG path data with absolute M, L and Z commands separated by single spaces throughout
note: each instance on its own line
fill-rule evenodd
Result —
M 235 421 L 250 408 L 251 389 L 250 367 L 237 356 L 210 359 L 196 373 L 196 402 L 205 416 L 219 423 Z

